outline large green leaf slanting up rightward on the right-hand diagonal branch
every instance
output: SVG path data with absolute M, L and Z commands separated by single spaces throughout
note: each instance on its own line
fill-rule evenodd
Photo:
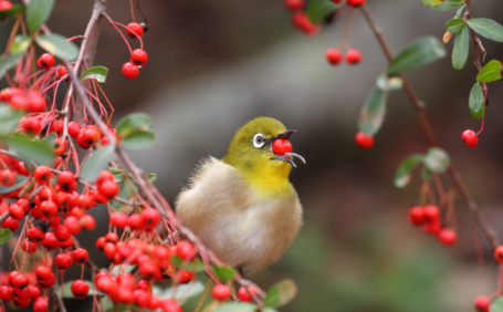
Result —
M 401 51 L 388 64 L 388 74 L 396 75 L 410 71 L 446 56 L 447 51 L 440 40 L 434 37 L 423 37 L 416 40 Z

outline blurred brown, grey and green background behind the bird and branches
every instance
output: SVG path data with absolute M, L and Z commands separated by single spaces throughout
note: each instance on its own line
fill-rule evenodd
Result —
M 92 2 L 59 1 L 49 27 L 67 37 L 83 33 Z M 122 2 L 111 1 L 108 13 L 127 24 L 130 12 Z M 432 11 L 419 0 L 367 2 L 394 53 L 421 35 L 441 39 L 454 13 Z M 129 53 L 106 23 L 95 64 L 109 69 L 104 90 L 115 121 L 132 112 L 153 116 L 157 144 L 130 154 L 146 173 L 157 174 L 156 185 L 170 204 L 197 162 L 222 157 L 247 121 L 272 116 L 297 131 L 291 142 L 307 165 L 294 169 L 291 179 L 305 225 L 281 261 L 251 277 L 264 289 L 285 278 L 297 283 L 297 297 L 281 311 L 473 311 L 476 295 L 496 289 L 492 251 L 480 239 L 484 257 L 478 261 L 473 222 L 460 199 L 459 240 L 451 248 L 407 221 L 408 208 L 419 199 L 420 178 L 397 189 L 395 170 L 408 155 L 425 153 L 428 143 L 402 92 L 390 94 L 375 146 L 363 150 L 354 143 L 359 108 L 386 67 L 360 12 L 348 42 L 363 52 L 363 61 L 334 67 L 325 50 L 338 44 L 348 12 L 306 37 L 293 28 L 282 1 L 150 0 L 140 6 L 148 19 L 144 49 L 149 60 L 139 76 L 122 75 Z M 473 13 L 503 23 L 500 1 L 473 2 Z M 483 44 L 488 60 L 502 60 L 501 45 Z M 453 70 L 448 56 L 407 77 L 427 103 L 438 138 L 480 204 L 482 219 L 502 237 L 503 91 L 501 82 L 490 84 L 485 131 L 479 146 L 469 149 L 462 131 L 480 128 L 468 110 L 476 75 L 472 58 L 471 51 L 462 71 Z M 450 187 L 450 179 L 444 181 Z M 103 232 L 90 238 L 103 235 L 105 225 L 102 218 Z

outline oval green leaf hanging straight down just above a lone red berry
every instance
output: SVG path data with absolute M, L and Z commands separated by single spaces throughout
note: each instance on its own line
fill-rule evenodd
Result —
M 359 112 L 358 129 L 366 135 L 375 135 L 379 131 L 386 115 L 386 96 L 377 86 L 368 95 Z

